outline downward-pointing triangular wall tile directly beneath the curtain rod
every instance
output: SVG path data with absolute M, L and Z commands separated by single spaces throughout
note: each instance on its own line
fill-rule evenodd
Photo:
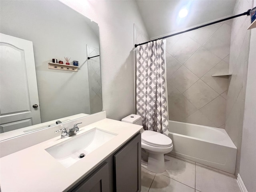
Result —
M 206 40 L 208 40 L 208 38 L 210 38 L 210 36 L 212 36 L 212 34 L 214 34 L 216 30 L 218 30 L 218 28 L 220 28 L 221 25 L 222 24 L 210 25 L 197 30 L 186 32 L 185 35 L 202 45 L 204 42 L 206 42 Z

